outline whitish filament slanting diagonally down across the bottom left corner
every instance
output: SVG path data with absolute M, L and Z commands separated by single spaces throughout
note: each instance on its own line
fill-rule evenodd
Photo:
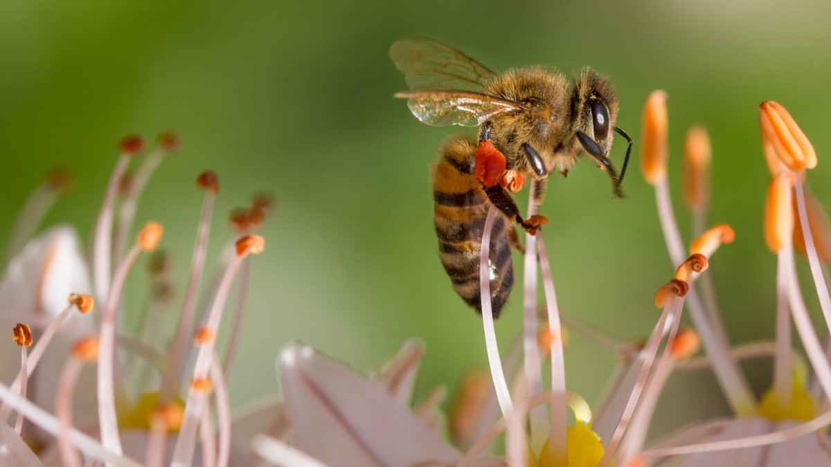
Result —
M 23 399 L 21 396 L 17 395 L 15 391 L 11 391 L 2 383 L 0 383 L 0 399 L 6 402 L 9 406 L 12 406 L 14 410 L 21 412 L 23 416 L 31 420 L 32 423 L 40 426 L 51 435 L 57 436 L 60 434 L 61 422 L 59 420 L 50 415 L 46 410 L 34 405 L 27 399 Z M 139 462 L 123 455 L 117 455 L 112 450 L 107 449 L 104 445 L 101 445 L 98 441 L 93 440 L 90 436 L 87 436 L 74 428 L 70 430 L 69 440 L 85 455 L 97 460 L 102 460 L 110 465 L 114 465 L 115 467 L 141 467 Z

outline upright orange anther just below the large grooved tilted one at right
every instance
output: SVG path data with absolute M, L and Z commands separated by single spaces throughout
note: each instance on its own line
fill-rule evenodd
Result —
M 794 235 L 794 175 L 782 172 L 770 180 L 765 200 L 765 242 L 774 253 L 789 244 Z

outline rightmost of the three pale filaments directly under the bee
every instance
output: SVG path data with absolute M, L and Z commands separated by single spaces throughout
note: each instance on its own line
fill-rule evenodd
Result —
M 548 452 L 568 459 L 566 433 L 568 431 L 568 409 L 566 408 L 566 366 L 563 356 L 563 329 L 560 327 L 560 312 L 557 292 L 548 263 L 548 253 L 542 234 L 537 238 L 539 266 L 543 275 L 545 304 L 548 309 L 548 332 L 553 337 L 549 354 L 551 356 L 551 406 L 548 407 L 550 427 L 548 429 Z M 531 254 L 534 254 L 533 252 Z

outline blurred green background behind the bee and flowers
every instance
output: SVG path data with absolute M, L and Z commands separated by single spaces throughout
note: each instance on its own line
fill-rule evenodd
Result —
M 593 66 L 617 86 L 618 124 L 636 138 L 636 155 L 643 101 L 666 90 L 682 232 L 690 221 L 678 196 L 681 141 L 700 123 L 714 151 L 711 219 L 737 233 L 711 264 L 730 337 L 768 338 L 774 256 L 761 232 L 768 174 L 757 105 L 780 101 L 799 120 L 819 152 L 810 187 L 827 202 L 829 8 L 709 0 L 2 2 L 0 233 L 47 170 L 67 165 L 75 188 L 47 224 L 69 222 L 89 238 L 116 142 L 175 129 L 181 150 L 152 179 L 138 220 L 165 224 L 179 292 L 201 203 L 199 171 L 216 170 L 222 184 L 211 258 L 229 236 L 229 209 L 260 189 L 279 200 L 263 229 L 266 252 L 254 259 L 234 406 L 277 391 L 275 356 L 293 339 L 368 370 L 420 337 L 427 355 L 417 398 L 435 385 L 452 388 L 465 369 L 486 364 L 480 319 L 450 289 L 432 227 L 428 167 L 453 129 L 420 124 L 391 97 L 405 84 L 387 53 L 398 37 L 425 35 L 495 70 Z M 622 150 L 618 143 L 613 157 Z M 550 184 L 544 235 L 563 313 L 636 338 L 656 320 L 652 294 L 671 268 L 637 160 L 626 189 L 627 199 L 612 199 L 606 176 L 581 161 Z M 145 297 L 144 276 L 130 279 L 128 303 Z M 519 332 L 520 295 L 498 322 L 503 346 Z M 162 335 L 175 317 L 168 321 Z M 614 362 L 574 337 L 568 386 L 597 401 Z M 768 386 L 768 369 L 750 367 L 757 390 Z M 700 406 L 678 403 L 691 396 Z M 673 379 L 659 410 L 661 426 L 670 426 L 725 404 L 700 373 Z

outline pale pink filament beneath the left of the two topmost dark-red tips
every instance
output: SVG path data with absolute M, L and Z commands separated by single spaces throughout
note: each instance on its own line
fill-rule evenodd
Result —
M 122 153 L 116 162 L 116 168 L 110 175 L 110 183 L 107 185 L 104 195 L 104 205 L 101 213 L 98 214 L 96 222 L 95 240 L 92 245 L 92 268 L 93 279 L 95 280 L 96 294 L 98 301 L 106 302 L 110 290 L 110 268 L 112 258 L 112 216 L 116 204 L 118 185 L 127 165 L 130 163 L 130 153 Z

